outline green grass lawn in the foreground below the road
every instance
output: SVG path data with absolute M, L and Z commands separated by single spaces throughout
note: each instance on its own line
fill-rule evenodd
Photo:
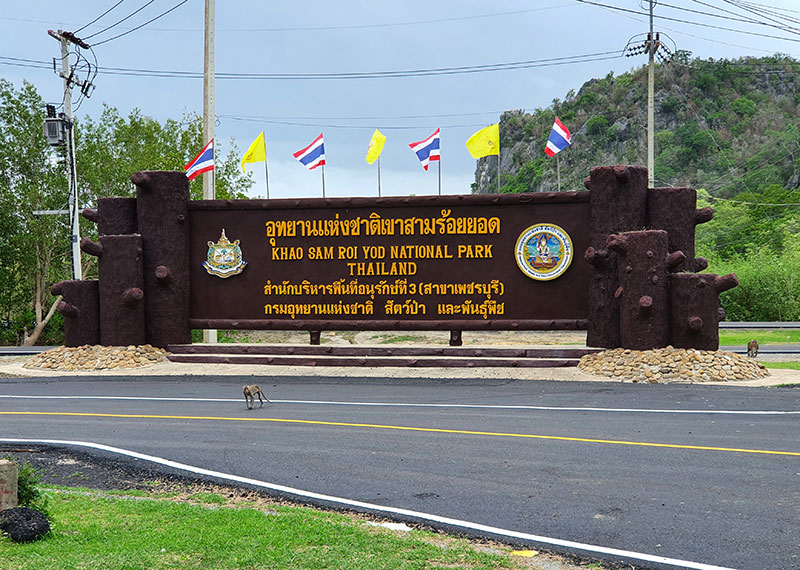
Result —
M 195 502 L 50 489 L 52 531 L 16 544 L 0 537 L 0 568 L 486 569 L 531 568 L 510 548 L 427 531 L 394 532 L 344 514 L 276 504 Z M 201 501 L 200 503 L 196 501 Z M 535 566 L 534 566 L 535 568 Z

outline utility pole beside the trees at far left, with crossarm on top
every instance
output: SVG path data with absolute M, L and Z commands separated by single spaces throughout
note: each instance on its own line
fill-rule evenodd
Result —
M 84 49 L 89 49 L 89 46 L 71 32 L 65 32 L 63 30 L 54 32 L 53 30 L 48 30 L 47 33 L 61 44 L 61 73 L 59 75 L 64 79 L 64 121 L 67 129 L 67 181 L 69 187 L 70 225 L 72 227 L 70 236 L 70 240 L 72 241 L 72 278 L 74 280 L 80 280 L 83 279 L 83 271 L 81 270 L 80 211 L 78 202 L 78 176 L 75 169 L 75 121 L 72 117 L 72 87 L 78 85 L 84 93 L 88 94 L 91 89 L 91 83 L 89 83 L 88 80 L 81 82 L 73 75 L 73 69 L 69 64 L 69 44 L 72 43 Z

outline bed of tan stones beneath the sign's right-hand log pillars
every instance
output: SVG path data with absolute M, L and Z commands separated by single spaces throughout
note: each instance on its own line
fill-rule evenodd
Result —
M 578 368 L 589 374 L 627 382 L 726 382 L 769 376 L 763 364 L 723 350 L 615 348 L 581 358 Z

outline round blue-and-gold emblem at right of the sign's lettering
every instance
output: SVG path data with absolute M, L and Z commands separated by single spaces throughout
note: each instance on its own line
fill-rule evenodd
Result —
M 514 254 L 525 275 L 550 281 L 560 277 L 572 263 L 572 240 L 554 224 L 536 224 L 519 235 Z

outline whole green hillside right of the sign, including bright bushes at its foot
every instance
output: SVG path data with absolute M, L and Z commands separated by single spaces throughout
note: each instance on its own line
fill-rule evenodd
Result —
M 655 184 L 691 186 L 714 219 L 698 227 L 709 271 L 735 272 L 731 320 L 800 320 L 800 62 L 785 56 L 692 60 L 655 73 Z M 591 79 L 533 113 L 500 119 L 501 192 L 556 191 L 544 146 L 557 116 L 561 190 L 583 190 L 593 166 L 647 164 L 647 67 Z M 478 161 L 473 191 L 497 191 L 497 159 Z

